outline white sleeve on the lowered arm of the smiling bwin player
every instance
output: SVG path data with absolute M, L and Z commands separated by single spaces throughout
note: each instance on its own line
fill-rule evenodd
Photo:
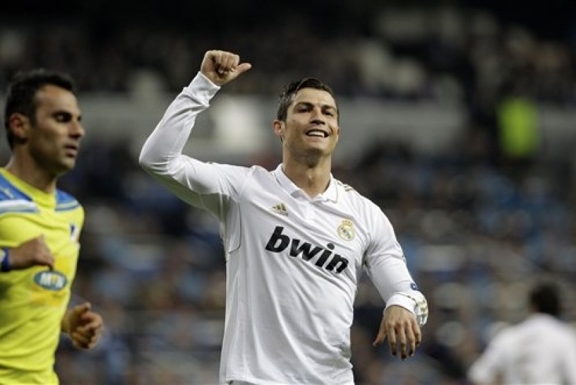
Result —
M 369 211 L 371 242 L 366 251 L 366 272 L 386 303 L 386 308 L 398 305 L 413 312 L 419 325 L 428 319 L 425 296 L 418 290 L 406 265 L 402 247 L 388 218 L 380 208 Z

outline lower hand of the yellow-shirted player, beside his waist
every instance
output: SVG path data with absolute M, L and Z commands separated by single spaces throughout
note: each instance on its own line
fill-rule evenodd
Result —
M 69 334 L 76 348 L 94 348 L 102 334 L 102 317 L 92 312 L 91 307 L 88 302 L 76 305 L 69 309 L 62 319 L 62 330 Z

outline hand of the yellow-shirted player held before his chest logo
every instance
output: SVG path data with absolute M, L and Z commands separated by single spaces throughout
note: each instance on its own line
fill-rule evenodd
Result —
M 54 265 L 54 256 L 52 255 L 44 235 L 22 242 L 17 247 L 9 249 L 8 265 L 10 270 L 28 269 L 33 266 Z

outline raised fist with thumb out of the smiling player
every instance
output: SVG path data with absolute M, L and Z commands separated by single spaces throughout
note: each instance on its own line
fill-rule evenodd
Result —
M 239 55 L 226 51 L 207 51 L 200 72 L 211 82 L 222 86 L 252 68 L 250 63 L 240 63 Z

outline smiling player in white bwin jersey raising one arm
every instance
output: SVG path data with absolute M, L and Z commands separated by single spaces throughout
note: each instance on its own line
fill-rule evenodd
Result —
M 227 272 L 221 384 L 353 384 L 350 326 L 362 268 L 386 303 L 375 346 L 388 338 L 393 355 L 414 355 L 427 303 L 384 213 L 332 177 L 339 109 L 319 80 L 291 83 L 280 96 L 276 170 L 181 153 L 198 114 L 248 69 L 235 53 L 207 51 L 139 162 L 221 222 Z

